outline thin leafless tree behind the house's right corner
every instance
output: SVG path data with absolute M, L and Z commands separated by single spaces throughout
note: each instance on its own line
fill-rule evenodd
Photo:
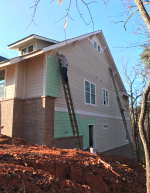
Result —
M 132 143 L 133 152 L 135 160 L 138 160 L 138 145 L 136 140 L 137 134 L 137 119 L 136 119 L 136 105 L 137 100 L 143 94 L 144 82 L 139 84 L 139 79 L 142 77 L 140 73 L 140 66 L 134 64 L 132 65 L 131 59 L 126 57 L 122 58 L 122 74 L 125 78 L 125 84 L 127 87 L 127 92 L 129 94 L 129 109 L 130 109 L 130 120 L 131 120 L 131 131 L 132 131 Z M 138 89 L 137 89 L 138 88 Z

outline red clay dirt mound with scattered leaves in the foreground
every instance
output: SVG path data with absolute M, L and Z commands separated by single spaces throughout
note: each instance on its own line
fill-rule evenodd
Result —
M 145 193 L 143 166 L 0 135 L 0 193 Z

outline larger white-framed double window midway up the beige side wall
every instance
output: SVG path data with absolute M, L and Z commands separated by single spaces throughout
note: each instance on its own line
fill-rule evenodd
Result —
M 96 105 L 95 84 L 88 81 L 85 81 L 85 102 L 87 104 Z

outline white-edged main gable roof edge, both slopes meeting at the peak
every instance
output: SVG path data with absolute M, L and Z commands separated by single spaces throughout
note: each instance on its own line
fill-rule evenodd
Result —
M 33 51 L 33 52 L 28 53 L 26 55 L 19 56 L 19 57 L 16 57 L 16 58 L 12 58 L 10 60 L 7 60 L 6 62 L 0 62 L 0 67 L 11 65 L 11 64 L 20 62 L 22 60 L 26 60 L 28 58 L 37 56 L 37 55 L 45 53 L 47 51 L 55 50 L 57 48 L 66 46 L 67 44 L 70 44 L 70 43 L 73 43 L 73 42 L 76 42 L 76 41 L 80 41 L 80 40 L 86 39 L 86 38 L 91 37 L 93 35 L 97 35 L 99 37 L 102 47 L 105 48 L 104 49 L 104 53 L 107 56 L 106 58 L 108 60 L 110 68 L 112 69 L 113 72 L 117 72 L 116 75 L 115 75 L 115 80 L 118 83 L 120 91 L 126 92 L 125 86 L 124 86 L 124 84 L 122 82 L 122 79 L 121 79 L 121 77 L 119 75 L 119 72 L 118 72 L 118 69 L 116 67 L 116 64 L 114 62 L 114 59 L 113 59 L 113 57 L 112 57 L 112 55 L 110 53 L 109 47 L 107 45 L 107 42 L 106 42 L 105 37 L 104 37 L 104 35 L 103 35 L 101 30 L 98 30 L 98 31 L 92 32 L 92 33 L 88 33 L 88 34 L 85 34 L 85 35 L 81 35 L 81 36 L 78 36 L 78 37 L 75 37 L 75 38 L 72 38 L 72 39 L 69 39 L 69 40 L 65 40 L 65 41 L 59 42 L 59 43 L 55 43 L 53 45 L 44 47 L 44 48 L 36 50 L 36 51 Z M 31 37 L 32 37 L 32 35 L 31 35 Z

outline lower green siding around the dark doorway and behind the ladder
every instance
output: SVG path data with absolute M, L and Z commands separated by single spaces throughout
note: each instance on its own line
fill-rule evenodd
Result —
M 83 135 L 83 148 L 89 145 L 89 125 L 95 124 L 95 119 L 80 119 L 76 114 L 79 127 L 79 135 Z M 55 111 L 54 113 L 54 137 L 73 136 L 69 115 L 66 112 Z

